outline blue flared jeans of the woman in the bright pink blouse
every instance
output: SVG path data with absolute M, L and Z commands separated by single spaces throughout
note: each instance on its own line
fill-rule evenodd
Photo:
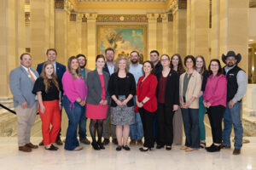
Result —
M 74 102 L 73 106 L 71 107 L 71 102 L 69 99 L 67 99 L 66 95 L 63 96 L 63 106 L 68 117 L 68 127 L 64 148 L 65 150 L 74 150 L 79 146 L 77 130 L 83 107 L 77 102 Z

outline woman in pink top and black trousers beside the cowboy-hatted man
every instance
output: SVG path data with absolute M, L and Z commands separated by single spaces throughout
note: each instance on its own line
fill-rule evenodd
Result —
M 213 143 L 206 150 L 215 152 L 220 150 L 222 143 L 222 119 L 226 108 L 227 79 L 218 59 L 211 60 L 208 71 L 209 77 L 203 94 L 203 104 L 208 110 Z

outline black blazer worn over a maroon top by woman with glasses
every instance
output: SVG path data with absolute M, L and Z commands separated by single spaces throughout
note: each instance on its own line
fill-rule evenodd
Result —
M 156 88 L 156 96 L 158 96 L 158 88 L 162 71 L 157 76 L 158 85 Z M 176 71 L 169 72 L 166 82 L 166 96 L 165 105 L 172 107 L 173 105 L 179 105 L 179 76 Z

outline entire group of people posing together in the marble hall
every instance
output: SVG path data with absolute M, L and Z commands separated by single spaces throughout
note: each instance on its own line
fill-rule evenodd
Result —
M 117 144 L 117 151 L 131 150 L 129 136 L 130 146 L 143 144 L 141 151 L 151 150 L 155 142 L 156 149 L 166 146 L 166 150 L 172 150 L 172 144 L 182 144 L 184 127 L 186 139 L 181 150 L 201 147 L 214 152 L 230 148 L 234 126 L 233 154 L 240 154 L 241 99 L 247 90 L 247 75 L 237 65 L 240 54 L 233 51 L 223 54 L 224 68 L 218 59 L 212 59 L 207 70 L 203 56 L 188 55 L 182 62 L 179 54 L 170 58 L 153 50 L 150 60 L 141 65 L 137 51 L 130 53 L 131 63 L 125 57 L 114 62 L 114 50 L 107 48 L 105 56 L 96 56 L 94 71 L 85 68 L 84 54 L 70 57 L 67 71 L 65 65 L 55 61 L 54 48 L 49 48 L 46 55 L 48 61 L 39 64 L 35 71 L 31 68 L 32 56 L 21 54 L 20 67 L 9 75 L 18 120 L 19 150 L 29 152 L 38 148 L 30 141 L 37 111 L 42 120 L 40 145 L 46 150 L 58 150 L 55 143 L 62 144 L 63 106 L 68 117 L 65 150 L 82 150 L 79 141 L 90 144 L 86 138 L 86 121 L 90 118 L 94 150 L 104 150 L 110 136 Z M 208 147 L 206 112 L 212 127 L 212 145 Z

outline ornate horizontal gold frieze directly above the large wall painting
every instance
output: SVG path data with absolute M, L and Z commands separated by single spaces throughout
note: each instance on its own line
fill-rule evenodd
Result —
M 147 22 L 146 14 L 98 14 L 96 22 Z

